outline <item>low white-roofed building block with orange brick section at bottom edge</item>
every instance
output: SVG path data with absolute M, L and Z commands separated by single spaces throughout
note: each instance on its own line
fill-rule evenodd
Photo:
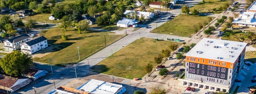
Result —
M 60 86 L 47 94 L 122 94 L 125 91 L 122 85 L 91 79 L 76 89 Z

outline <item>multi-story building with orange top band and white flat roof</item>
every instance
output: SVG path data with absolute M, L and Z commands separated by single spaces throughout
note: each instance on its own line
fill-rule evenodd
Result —
M 203 38 L 185 55 L 183 84 L 229 93 L 244 64 L 246 44 Z

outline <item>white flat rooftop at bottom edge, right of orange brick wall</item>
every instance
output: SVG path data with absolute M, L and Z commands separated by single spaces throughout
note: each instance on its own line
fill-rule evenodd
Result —
M 94 94 L 115 94 L 120 88 L 123 88 L 122 85 L 91 79 L 77 88 L 77 90 Z

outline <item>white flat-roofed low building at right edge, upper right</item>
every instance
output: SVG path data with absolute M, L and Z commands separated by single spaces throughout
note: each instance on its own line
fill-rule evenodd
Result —
M 256 19 L 254 12 L 242 12 L 239 15 L 239 18 L 236 18 L 232 22 L 233 26 L 241 26 L 241 27 L 256 27 Z

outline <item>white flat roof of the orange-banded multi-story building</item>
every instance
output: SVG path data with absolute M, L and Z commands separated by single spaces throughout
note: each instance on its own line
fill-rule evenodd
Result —
M 193 56 L 234 63 L 239 57 L 240 53 L 242 53 L 242 50 L 246 47 L 246 44 L 247 43 L 237 41 L 203 38 L 185 56 Z M 196 53 L 197 51 L 201 51 L 201 53 Z M 217 59 L 217 57 L 219 58 Z

